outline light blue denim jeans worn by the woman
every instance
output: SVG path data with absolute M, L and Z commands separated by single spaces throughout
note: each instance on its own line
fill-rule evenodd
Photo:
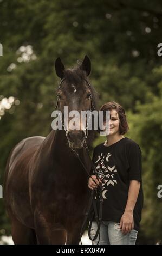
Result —
M 91 237 L 96 234 L 97 224 L 95 221 L 92 223 L 90 230 Z M 137 240 L 138 231 L 132 229 L 130 233 L 123 234 L 120 229 L 120 223 L 112 221 L 102 221 L 100 227 L 100 241 L 99 235 L 96 240 L 92 241 L 92 245 L 135 245 Z

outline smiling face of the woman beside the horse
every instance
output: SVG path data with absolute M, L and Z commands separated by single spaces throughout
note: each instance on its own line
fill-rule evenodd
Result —
M 108 122 L 109 135 L 119 134 L 119 124 L 120 119 L 118 112 L 115 109 L 112 109 L 110 112 L 110 120 Z

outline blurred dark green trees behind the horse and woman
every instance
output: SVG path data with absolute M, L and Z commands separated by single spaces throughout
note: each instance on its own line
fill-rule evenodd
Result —
M 55 59 L 72 68 L 88 54 L 99 107 L 119 102 L 128 117 L 126 136 L 142 150 L 144 210 L 137 243 L 162 239 L 161 10 L 160 0 L 0 0 L 0 185 L 14 145 L 51 130 Z M 93 146 L 102 141 L 96 137 Z M 0 198 L 0 237 L 8 235 Z

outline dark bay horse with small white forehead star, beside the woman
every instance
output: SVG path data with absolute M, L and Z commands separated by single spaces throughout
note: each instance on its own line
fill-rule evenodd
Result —
M 87 56 L 72 70 L 65 70 L 57 58 L 55 70 L 61 78 L 57 106 L 62 113 L 64 106 L 79 112 L 96 108 L 96 93 L 88 82 L 90 69 Z M 87 143 L 92 134 L 89 130 Z M 79 243 L 89 198 L 88 175 L 72 149 L 90 170 L 85 139 L 83 129 L 68 129 L 67 135 L 51 130 L 46 138 L 29 137 L 12 149 L 5 172 L 5 205 L 15 244 Z

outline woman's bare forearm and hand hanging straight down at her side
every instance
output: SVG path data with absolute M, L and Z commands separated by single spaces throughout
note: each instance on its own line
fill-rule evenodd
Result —
M 126 234 L 134 228 L 133 210 L 138 198 L 139 189 L 140 182 L 138 180 L 131 180 L 125 212 L 120 220 L 120 228 L 122 229 L 122 233 Z

